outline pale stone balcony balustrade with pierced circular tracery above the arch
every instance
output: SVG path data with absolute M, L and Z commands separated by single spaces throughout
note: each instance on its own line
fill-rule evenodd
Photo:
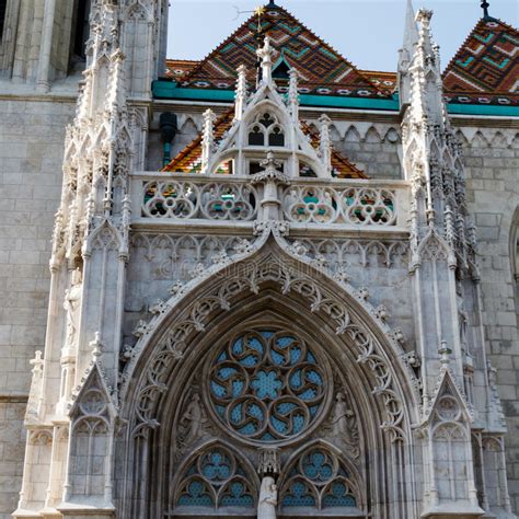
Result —
M 251 176 L 185 173 L 131 175 L 132 227 L 252 229 L 267 195 Z M 407 235 L 408 183 L 290 178 L 276 193 L 291 232 Z

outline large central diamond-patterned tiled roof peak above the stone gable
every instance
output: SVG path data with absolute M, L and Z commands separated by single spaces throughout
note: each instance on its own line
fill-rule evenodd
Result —
M 265 9 L 261 18 L 261 32 L 268 33 L 273 47 L 276 49 L 275 78 L 277 72 L 282 76 L 287 68 L 296 68 L 300 76 L 300 93 L 303 94 L 360 97 L 389 95 L 389 89 L 384 89 L 383 84 L 376 85 L 368 76 L 288 11 L 280 7 Z M 180 86 L 231 90 L 234 88 L 237 69 L 240 65 L 247 67 L 249 79 L 253 82 L 257 60 L 258 28 L 258 16 L 251 16 L 191 71 L 180 74 Z M 279 90 L 282 91 L 280 83 Z

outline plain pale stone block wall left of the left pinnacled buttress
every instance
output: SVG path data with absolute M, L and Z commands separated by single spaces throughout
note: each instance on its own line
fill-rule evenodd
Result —
M 28 361 L 44 349 L 50 239 L 74 101 L 0 101 L 0 517 L 13 511 L 20 492 Z

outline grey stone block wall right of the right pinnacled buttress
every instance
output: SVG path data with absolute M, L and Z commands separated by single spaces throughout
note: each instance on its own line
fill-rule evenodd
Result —
M 512 221 L 519 207 L 517 128 L 461 126 L 469 209 L 477 228 L 485 334 L 503 402 L 512 510 L 519 510 L 519 336 L 517 280 L 510 264 Z

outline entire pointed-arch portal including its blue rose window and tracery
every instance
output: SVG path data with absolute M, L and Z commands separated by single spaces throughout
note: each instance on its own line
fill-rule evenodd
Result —
M 269 240 L 165 307 L 123 391 L 123 517 L 256 517 L 266 474 L 278 517 L 415 514 L 411 374 L 350 288 Z

